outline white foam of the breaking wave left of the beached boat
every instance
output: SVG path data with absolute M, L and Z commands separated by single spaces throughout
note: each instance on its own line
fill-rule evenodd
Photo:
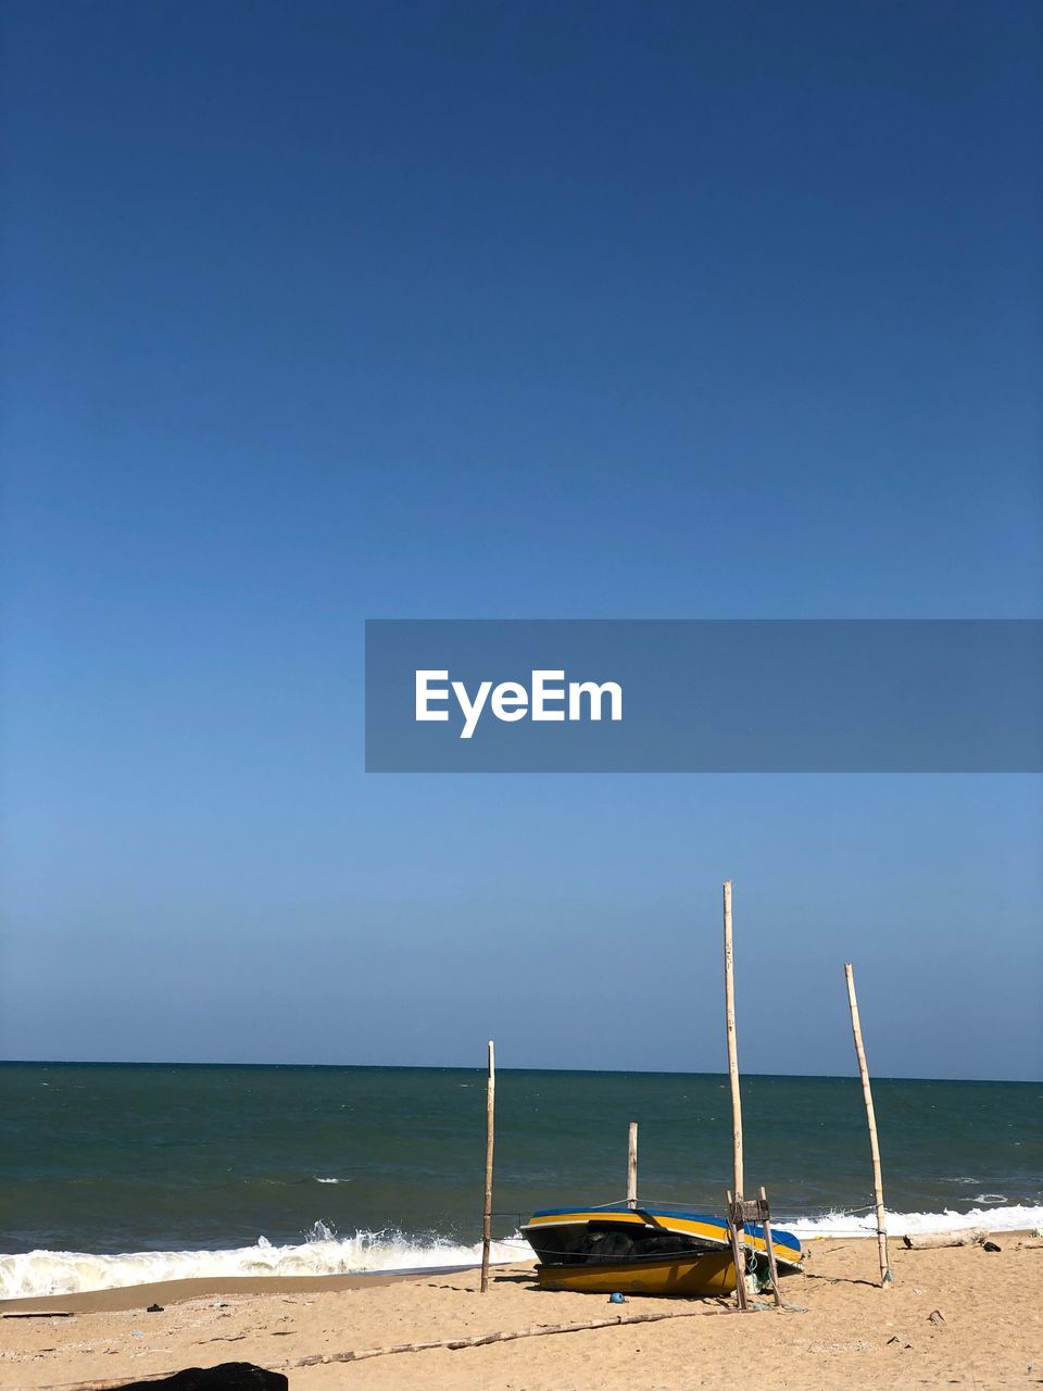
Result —
M 513 1242 L 494 1241 L 495 1262 L 517 1260 L 528 1251 Z M 316 1223 L 299 1246 L 274 1246 L 264 1237 L 235 1251 L 138 1251 L 118 1256 L 93 1256 L 78 1251 L 31 1251 L 0 1256 L 0 1298 L 78 1294 L 85 1289 L 117 1289 L 160 1280 L 223 1278 L 227 1276 L 345 1276 L 366 1271 L 474 1266 L 481 1244 L 462 1246 L 437 1237 L 410 1238 L 392 1231 L 356 1231 L 338 1237 Z

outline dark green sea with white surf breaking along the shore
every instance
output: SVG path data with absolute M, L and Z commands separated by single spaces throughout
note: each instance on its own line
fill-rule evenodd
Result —
M 896 1234 L 1043 1224 L 1043 1085 L 873 1082 Z M 747 1188 L 798 1235 L 872 1228 L 855 1078 L 743 1079 Z M 534 1207 L 640 1193 L 723 1210 L 727 1078 L 496 1077 L 494 1257 Z M 0 1295 L 476 1259 L 484 1071 L 0 1064 Z

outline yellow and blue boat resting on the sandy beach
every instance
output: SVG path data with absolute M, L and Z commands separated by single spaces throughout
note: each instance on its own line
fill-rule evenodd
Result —
M 723 1217 L 688 1207 L 608 1203 L 545 1207 L 522 1228 L 540 1259 L 541 1289 L 591 1294 L 725 1295 L 736 1288 L 731 1235 Z M 747 1270 L 768 1270 L 763 1228 L 743 1234 Z M 780 1273 L 800 1270 L 804 1251 L 789 1231 L 772 1228 Z

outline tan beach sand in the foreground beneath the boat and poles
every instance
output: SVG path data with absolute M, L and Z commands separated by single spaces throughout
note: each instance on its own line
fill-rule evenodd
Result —
M 181 1281 L 51 1301 L 0 1313 L 75 1309 L 0 1321 L 0 1387 L 118 1385 L 186 1366 L 281 1367 L 293 1391 L 430 1385 L 446 1391 L 658 1391 L 768 1387 L 1043 1385 L 1043 1248 L 997 1235 L 979 1246 L 905 1251 L 880 1289 L 873 1241 L 811 1244 L 807 1276 L 783 1281 L 801 1310 L 737 1314 L 730 1301 L 544 1292 L 528 1264 L 409 1278 Z M 149 1303 L 161 1313 L 146 1313 Z M 932 1321 L 939 1310 L 943 1321 Z M 437 1349 L 293 1369 L 298 1359 L 402 1342 L 467 1338 L 636 1313 L 691 1313 L 458 1351 Z

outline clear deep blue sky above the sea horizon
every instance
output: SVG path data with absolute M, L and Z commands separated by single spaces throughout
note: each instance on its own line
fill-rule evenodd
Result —
M 1043 613 L 1035 3 L 0 15 L 0 1056 L 1039 1077 L 1029 776 L 366 776 L 366 618 Z

